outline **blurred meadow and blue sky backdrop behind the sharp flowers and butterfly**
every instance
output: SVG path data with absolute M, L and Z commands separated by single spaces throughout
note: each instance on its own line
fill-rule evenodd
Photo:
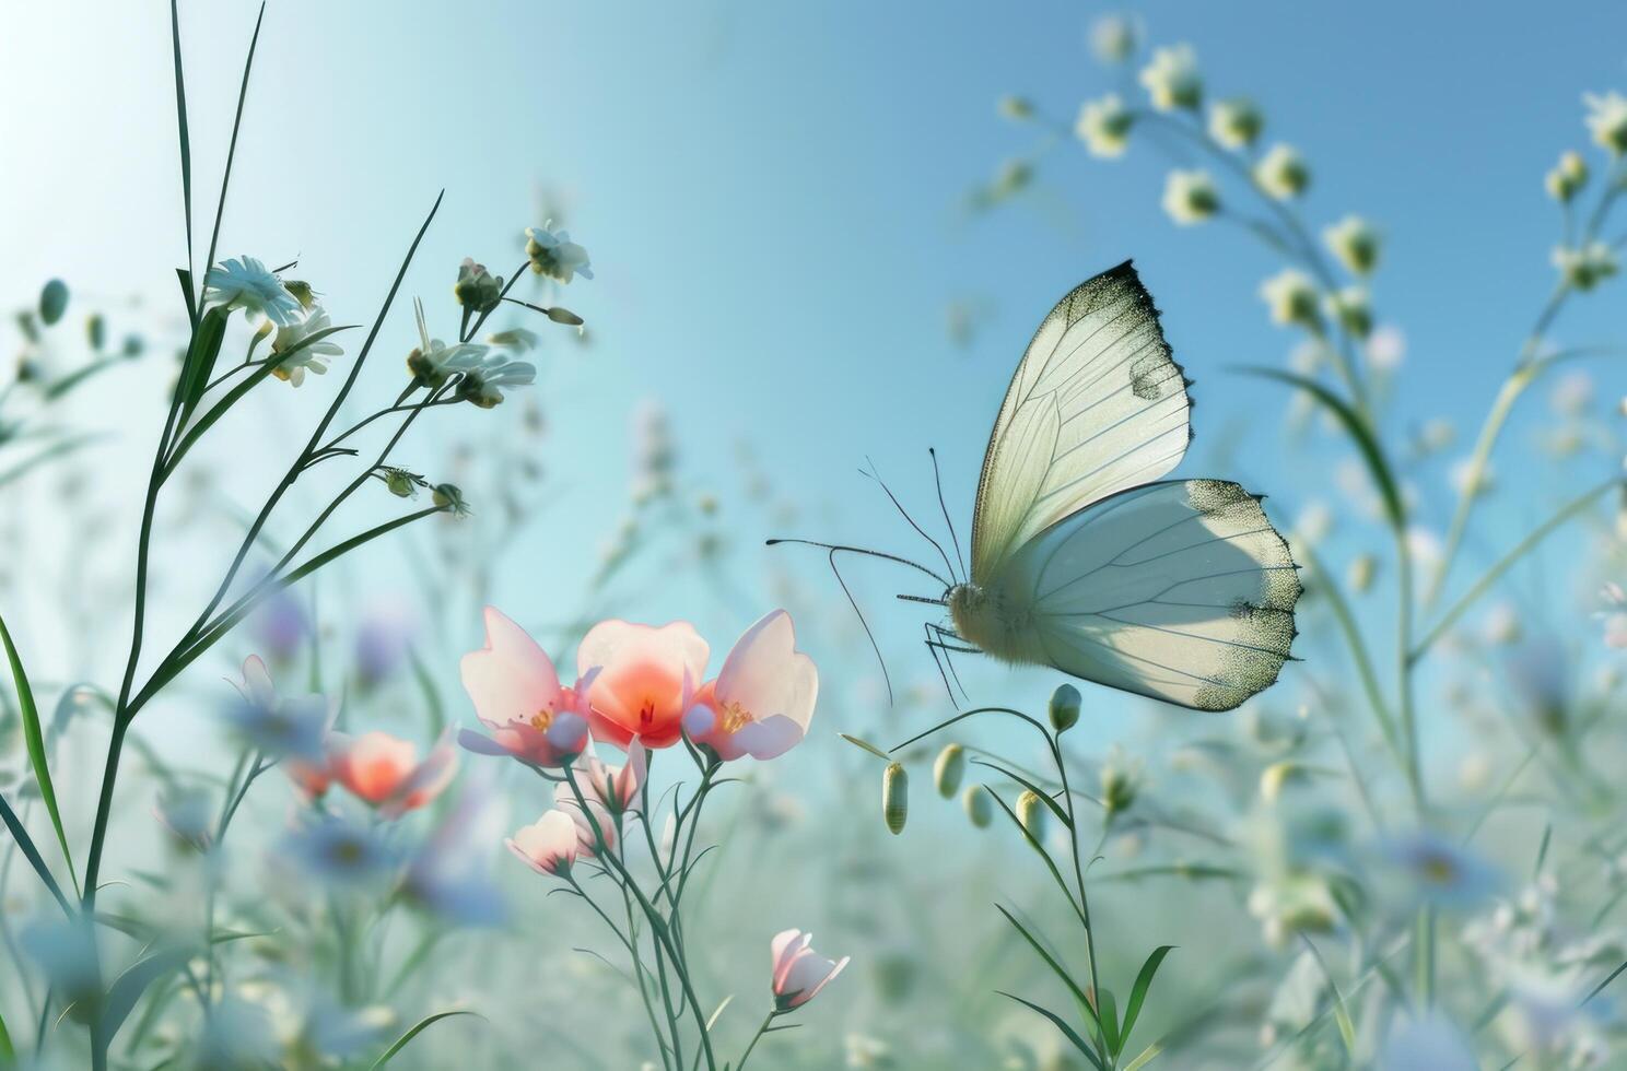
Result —
M 851 962 L 797 1009 L 799 1029 L 760 1040 L 757 1068 L 1627 1066 L 1627 990 L 1603 985 L 1627 962 L 1627 596 L 1614 587 L 1627 583 L 1614 486 L 1627 340 L 1609 278 L 1627 236 L 1611 213 L 1627 189 L 1627 102 L 1607 96 L 1627 89 L 1627 11 L 465 8 L 267 5 L 216 262 L 296 262 L 285 278 L 308 281 L 334 323 L 371 325 L 444 190 L 356 382 L 382 405 L 421 345 L 412 299 L 451 338 L 462 258 L 508 280 L 527 262 L 526 228 L 568 229 L 592 278 L 527 273 L 513 296 L 586 325 L 499 306 L 490 330 L 537 335 L 519 354 L 535 382 L 495 408 L 426 413 L 392 455 L 425 475 L 418 497 L 369 481 L 312 549 L 438 505 L 428 484 L 456 484 L 469 515 L 428 515 L 288 588 L 133 720 L 91 982 L 76 931 L 59 931 L 63 912 L 15 839 L 0 843 L 0 1064 L 88 1066 L 106 1042 L 125 1068 L 529 1066 L 539 1053 L 672 1066 L 615 934 L 503 848 L 553 785 L 459 749 L 451 783 L 387 835 L 358 827 L 389 842 L 358 850 L 387 847 L 407 876 L 381 866 L 347 884 L 301 866 L 311 808 L 231 733 L 228 681 L 251 655 L 281 691 L 324 694 L 353 735 L 386 731 L 423 756 L 447 726 L 478 730 L 459 660 L 480 648 L 490 603 L 563 676 L 594 622 L 625 618 L 693 622 L 709 678 L 774 608 L 818 666 L 807 738 L 771 762 L 726 764 L 740 783 L 718 790 L 700 830 L 718 848 L 685 902 L 687 969 L 706 1014 L 732 999 L 708 1030 L 716 1063 L 696 1063 L 711 1056 L 693 1022 L 670 1027 L 687 1032 L 683 1066 L 739 1066 L 773 1003 L 770 938 L 787 928 Z M 198 283 L 257 13 L 179 5 Z M 1201 101 L 1158 111 L 1149 89 L 1191 88 L 1171 75 L 1176 54 L 1154 59 L 1180 44 Z M 1160 63 L 1149 86 L 1141 72 Z M 98 697 L 125 671 L 151 450 L 194 333 L 174 276 L 189 247 L 171 11 L 15 7 L 0 89 L 0 301 L 16 314 L 0 323 L 0 616 L 42 726 L 36 744 L 26 704 L 0 689 L 0 791 L 73 895 L 36 756 L 78 881 L 117 705 Z M 1121 159 L 1101 158 L 1103 112 L 1079 122 L 1108 94 L 1139 109 L 1118 132 Z M 1263 132 L 1233 124 L 1235 146 L 1214 141 L 1214 104 L 1241 98 Z M 1276 145 L 1308 169 L 1280 198 L 1253 171 Z M 1171 189 L 1171 169 L 1210 176 L 1219 210 L 1206 179 Z M 1324 307 L 1292 236 L 1287 250 L 1261 241 L 1289 228 L 1279 213 L 1362 291 L 1368 320 L 1354 296 Z M 1352 215 L 1372 229 L 1346 239 L 1368 239 L 1376 267 L 1324 241 Z M 921 644 L 921 611 L 936 608 L 893 598 L 940 592 L 849 559 L 888 689 L 825 556 L 765 540 L 927 561 L 859 470 L 874 465 L 940 533 L 929 447 L 965 540 L 1035 325 L 1131 257 L 1194 380 L 1196 439 L 1176 475 L 1269 496 L 1305 567 L 1303 661 L 1224 715 L 1080 684 L 1079 725 L 1053 739 L 1084 809 L 1072 830 L 1028 834 L 1058 861 L 1082 858 L 1100 934 L 1087 946 L 1028 837 L 999 813 L 975 824 L 978 804 L 958 798 L 988 782 L 1015 801 L 1023 785 L 970 765 L 953 798 L 936 791 L 955 780 L 942 767 L 975 757 L 1056 788 L 1053 769 L 1025 772 L 1053 757 L 1032 733 L 973 720 L 893 756 L 911 801 L 896 835 L 887 762 L 840 736 L 887 749 L 973 705 L 1045 722 L 1062 674 L 957 657 L 957 702 Z M 1284 268 L 1305 275 L 1284 281 Z M 67 286 L 60 317 L 50 280 Z M 229 330 L 226 351 L 242 353 L 251 328 Z M 298 390 L 265 379 L 164 488 L 143 678 L 208 603 L 364 333 L 335 336 L 343 354 Z M 1376 465 L 1331 406 L 1243 371 L 1342 392 L 1339 354 L 1365 392 Z M 351 401 L 340 426 L 369 411 Z M 1476 465 L 1489 413 L 1495 440 Z M 244 583 L 332 489 L 290 488 Z M 1417 657 L 1398 666 L 1398 644 Z M 1402 707 L 1415 743 L 1398 748 L 1385 718 Z M 966 751 L 942 761 L 949 743 Z M 682 749 L 662 752 L 651 803 L 696 775 Z M 439 865 L 438 852 L 459 856 L 456 894 L 413 884 L 408 860 Z M 1160 946 L 1175 951 L 1155 982 L 1132 985 Z M 1085 947 L 1100 986 L 1084 982 Z M 109 1030 L 122 998 L 106 983 L 164 949 L 182 954 L 122 990 L 130 1008 Z M 1131 1037 L 1090 1025 L 1098 990 L 1116 991 L 1118 1027 L 1131 991 L 1145 995 Z M 473 1014 L 413 1032 L 447 1011 Z

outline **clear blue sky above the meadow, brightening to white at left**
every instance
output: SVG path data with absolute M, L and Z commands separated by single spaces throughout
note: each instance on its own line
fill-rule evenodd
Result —
M 182 8 L 207 229 L 255 7 Z M 856 468 L 870 455 L 926 502 L 927 445 L 968 522 L 988 427 L 1033 325 L 1124 257 L 1197 380 L 1199 439 L 1180 471 L 1232 475 L 1204 471 L 1204 447 L 1243 429 L 1237 465 L 1290 517 L 1337 455 L 1287 460 L 1284 398 L 1227 372 L 1285 359 L 1256 296 L 1276 268 L 1264 254 L 1237 232 L 1170 226 L 1167 164 L 1147 151 L 1108 166 L 1062 146 L 1030 197 L 963 211 L 971 185 L 1035 145 L 996 114 L 1001 94 L 1071 119 L 1113 86 L 1085 46 L 1105 10 L 273 0 L 221 252 L 298 257 L 335 319 L 371 317 L 446 187 L 408 293 L 451 332 L 457 262 L 506 271 L 519 229 L 542 223 L 537 189 L 553 192 L 594 258 L 597 278 L 561 301 L 589 319 L 595 345 L 543 358 L 560 366 L 548 374 L 555 465 L 576 512 L 548 527 L 537 556 L 550 567 L 516 572 L 517 600 L 568 585 L 560 577 L 581 572 L 613 525 L 641 398 L 672 411 L 687 466 L 726 494 L 732 452 L 748 442 L 828 518 L 822 535 L 901 535 Z M 1468 429 L 1552 281 L 1557 213 L 1542 172 L 1585 143 L 1581 93 L 1627 88 L 1627 8 L 1485 3 L 1471 18 L 1399 2 L 1193 0 L 1137 15 L 1154 41 L 1191 42 L 1217 94 L 1254 98 L 1267 137 L 1306 153 L 1318 226 L 1360 211 L 1385 229 L 1376 302 L 1409 340 L 1396 426 L 1445 414 Z M 8 20 L 0 293 L 26 297 L 60 275 L 80 293 L 174 310 L 184 244 L 164 5 L 26 5 Z M 966 348 L 945 333 L 955 299 L 986 312 Z M 1612 302 L 1611 291 L 1586 302 L 1560 338 L 1609 338 Z M 402 304 L 371 375 L 394 382 L 410 345 Z M 1619 369 L 1593 371 L 1606 400 L 1627 387 Z M 1541 398 L 1531 405 L 1541 414 Z M 1529 431 L 1518 424 L 1498 458 L 1510 483 L 1538 465 Z M 1578 481 L 1603 475 L 1590 465 Z M 1420 489 L 1438 523 L 1430 479 Z M 1549 489 L 1490 515 L 1529 520 Z M 773 535 L 755 525 L 742 520 L 742 546 Z M 1497 546 L 1497 531 L 1477 528 L 1476 543 Z M 685 613 L 682 598 L 654 595 L 648 616 Z

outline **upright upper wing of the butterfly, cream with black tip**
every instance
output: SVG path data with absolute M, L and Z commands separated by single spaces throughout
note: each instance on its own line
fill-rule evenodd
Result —
M 1158 479 L 1191 439 L 1186 379 L 1136 268 L 1075 286 L 1001 403 L 971 520 L 971 579 L 1082 505 Z

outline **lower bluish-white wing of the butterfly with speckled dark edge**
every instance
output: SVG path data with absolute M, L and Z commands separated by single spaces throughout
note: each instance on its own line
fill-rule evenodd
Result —
M 1232 710 L 1289 658 L 1300 580 L 1259 501 L 1235 483 L 1132 488 L 1020 546 L 996 580 L 1023 653 L 1128 692 Z

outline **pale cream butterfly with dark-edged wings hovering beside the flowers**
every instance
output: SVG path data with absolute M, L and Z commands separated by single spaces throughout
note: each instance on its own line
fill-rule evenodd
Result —
M 1259 496 L 1162 479 L 1193 437 L 1189 385 L 1126 260 L 1069 291 L 1028 343 L 983 458 L 965 579 L 947 554 L 944 577 L 817 546 L 833 566 L 836 551 L 866 553 L 944 582 L 942 598 L 900 596 L 949 611 L 953 627 L 927 626 L 934 657 L 1232 710 L 1289 661 L 1302 587 Z

